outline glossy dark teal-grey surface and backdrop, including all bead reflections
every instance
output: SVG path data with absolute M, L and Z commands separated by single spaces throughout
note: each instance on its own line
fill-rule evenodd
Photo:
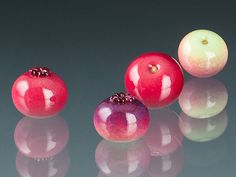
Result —
M 0 176 L 235 177 L 236 13 L 233 4 L 161 1 L 0 2 Z M 184 72 L 173 104 L 150 110 L 145 136 L 131 143 L 103 140 L 96 106 L 125 91 L 138 55 L 168 53 L 188 32 L 206 28 L 229 49 L 218 75 Z M 57 73 L 68 102 L 52 119 L 32 120 L 14 107 L 14 80 L 35 66 Z M 195 118 L 191 118 L 195 117 Z

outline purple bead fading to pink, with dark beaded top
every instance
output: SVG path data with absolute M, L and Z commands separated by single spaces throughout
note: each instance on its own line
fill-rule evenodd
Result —
M 145 105 L 123 92 L 102 101 L 94 113 L 97 132 L 109 141 L 136 140 L 146 133 L 149 121 Z

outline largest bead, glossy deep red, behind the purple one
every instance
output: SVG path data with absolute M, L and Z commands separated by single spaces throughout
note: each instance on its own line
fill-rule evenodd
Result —
M 163 107 L 175 101 L 183 83 L 183 72 L 177 61 L 158 52 L 140 55 L 125 74 L 127 92 L 150 108 Z

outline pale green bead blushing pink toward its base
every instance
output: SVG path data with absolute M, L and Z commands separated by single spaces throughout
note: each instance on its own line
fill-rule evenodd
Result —
M 178 56 L 181 65 L 189 74 L 211 77 L 224 68 L 228 60 L 228 48 L 215 32 L 195 30 L 181 40 Z

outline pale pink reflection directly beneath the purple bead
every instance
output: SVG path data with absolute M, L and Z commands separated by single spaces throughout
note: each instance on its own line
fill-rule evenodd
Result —
M 147 169 L 150 155 L 143 141 L 112 143 L 103 140 L 96 148 L 95 158 L 106 176 L 138 177 Z

